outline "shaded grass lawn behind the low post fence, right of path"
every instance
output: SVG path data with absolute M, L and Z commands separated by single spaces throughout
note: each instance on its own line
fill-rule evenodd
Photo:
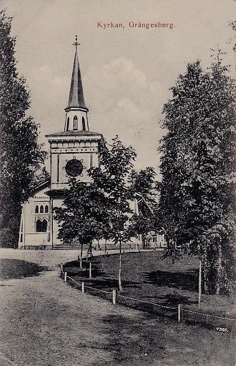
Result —
M 78 273 L 77 262 L 70 262 L 68 273 L 78 281 L 85 280 L 87 285 L 107 291 L 117 288 L 118 255 L 95 257 L 93 262 L 93 279 L 88 279 L 88 271 Z M 88 267 L 88 263 L 84 263 Z M 203 295 L 201 308 L 198 309 L 198 260 L 196 257 L 185 256 L 181 261 L 172 263 L 170 258 L 162 260 L 162 252 L 141 252 L 122 254 L 122 285 L 124 292 L 120 295 L 158 303 L 164 306 L 195 310 L 197 312 L 234 318 L 233 298 L 223 296 Z M 92 290 L 90 290 L 91 293 Z M 104 295 L 94 291 L 94 295 Z M 158 308 L 149 304 L 137 303 L 125 298 L 117 297 L 119 304 L 128 305 L 141 310 L 164 313 L 177 318 L 177 310 Z M 212 325 L 213 318 L 183 312 L 188 321 L 203 322 Z M 213 325 L 231 327 L 231 321 L 214 319 Z

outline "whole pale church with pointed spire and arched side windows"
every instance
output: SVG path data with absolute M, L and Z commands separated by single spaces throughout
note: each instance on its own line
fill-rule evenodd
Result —
M 54 219 L 53 207 L 61 206 L 69 176 L 78 177 L 83 182 L 91 180 L 87 170 L 99 166 L 98 146 L 103 135 L 92 132 L 89 128 L 89 110 L 84 99 L 76 37 L 74 45 L 75 55 L 63 131 L 46 135 L 50 145 L 50 180 L 39 185 L 34 196 L 22 206 L 19 249 L 80 248 L 80 243 L 65 244 L 57 239 L 58 225 Z M 142 197 L 138 194 L 130 201 L 130 208 L 137 214 L 141 201 Z M 162 236 L 159 237 L 163 241 Z M 130 244 L 140 245 L 141 240 L 132 238 Z

